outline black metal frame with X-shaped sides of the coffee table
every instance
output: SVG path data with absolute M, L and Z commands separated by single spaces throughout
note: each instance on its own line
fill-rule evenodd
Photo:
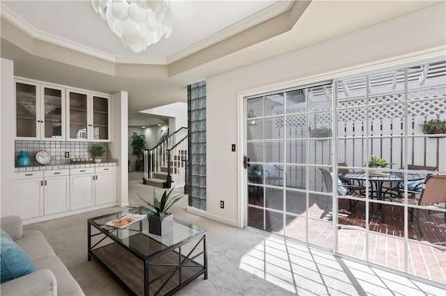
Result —
M 120 215 L 121 212 L 116 213 L 117 215 Z M 93 218 L 94 219 L 94 218 Z M 93 258 L 93 260 L 95 262 L 97 262 L 117 283 L 119 286 L 121 286 L 129 295 L 137 295 L 134 293 L 134 291 L 132 289 L 130 289 L 130 287 L 127 286 L 127 284 L 125 284 L 121 278 L 119 278 L 105 263 L 103 263 L 100 258 L 98 258 L 98 256 L 96 256 L 93 253 L 93 250 L 95 249 L 96 246 L 98 246 L 100 244 L 100 242 L 102 242 L 103 240 L 105 240 L 106 238 L 112 239 L 114 240 L 114 242 L 116 242 L 118 245 L 120 245 L 121 247 L 123 247 L 124 249 L 128 250 L 128 252 L 130 252 L 132 255 L 134 255 L 135 257 L 139 258 L 141 261 L 143 261 L 144 263 L 144 296 L 148 296 L 149 295 L 149 290 L 150 290 L 150 285 L 151 283 L 162 279 L 162 277 L 164 277 L 165 275 L 171 273 L 170 277 L 167 279 L 167 281 L 164 282 L 164 284 L 160 287 L 160 289 L 157 290 L 157 292 L 154 295 L 158 295 L 160 293 L 160 291 L 162 290 L 162 288 L 164 288 L 164 286 L 166 286 L 167 282 L 174 277 L 174 274 L 176 272 L 179 273 L 179 278 L 180 278 L 180 283 L 178 284 L 178 286 L 176 286 L 176 288 L 170 290 L 167 294 L 165 295 L 172 295 L 175 292 L 177 292 L 178 290 L 180 290 L 181 288 L 183 288 L 184 286 L 187 285 L 187 283 L 190 283 L 191 281 L 193 281 L 194 279 L 197 279 L 197 277 L 199 277 L 201 274 L 204 274 L 204 279 L 208 279 L 208 257 L 207 257 L 207 249 L 206 249 L 206 231 L 204 233 L 199 233 L 196 236 L 192 236 L 190 238 L 187 238 L 186 240 L 183 240 L 181 242 L 178 242 L 174 245 L 171 245 L 170 247 L 167 247 L 166 249 L 163 249 L 160 252 L 157 252 L 151 256 L 146 257 L 144 260 L 141 259 L 142 257 L 144 257 L 143 254 L 135 254 L 135 253 L 139 253 L 135 250 L 130 250 L 127 246 L 123 245 L 122 242 L 120 242 L 119 240 L 116 240 L 116 238 L 114 238 L 113 236 L 109 236 L 107 231 L 105 231 L 105 229 L 98 229 L 97 227 L 95 227 L 90 220 L 88 220 L 87 222 L 87 227 L 88 227 L 88 261 L 91 261 L 91 259 Z M 93 235 L 91 235 L 91 227 L 94 227 L 95 229 L 97 229 L 98 231 L 100 231 L 99 233 L 95 233 Z M 141 228 L 141 227 L 140 227 Z M 112 229 L 111 232 L 113 231 L 117 231 L 117 229 Z M 91 245 L 91 238 L 93 238 L 94 236 L 100 236 L 103 235 L 104 237 L 101 238 L 98 242 L 96 242 L 93 246 Z M 199 238 L 199 236 L 201 236 L 201 238 Z M 181 246 L 190 243 L 192 240 L 199 238 L 199 241 L 197 242 L 196 245 L 194 245 L 194 247 L 192 248 L 192 250 L 185 256 L 185 259 L 182 260 L 182 256 L 183 254 L 181 254 Z M 153 238 L 151 238 L 153 239 Z M 200 243 L 203 243 L 203 251 L 199 252 L 198 254 L 195 254 L 193 257 L 190 258 L 190 255 L 192 254 L 192 252 L 194 252 L 195 249 L 197 249 L 197 247 L 199 246 Z M 178 249 L 178 252 L 174 251 L 175 249 Z M 153 261 L 154 259 L 163 256 L 164 254 L 167 254 L 169 252 L 174 252 L 176 254 L 178 254 L 178 264 L 177 265 L 171 265 L 171 264 L 165 264 L 164 266 L 170 266 L 171 269 L 168 270 L 167 272 L 164 272 L 164 274 L 161 274 L 159 277 L 156 277 L 155 279 L 150 280 L 149 279 L 149 268 L 150 268 L 150 261 Z M 185 281 L 182 281 L 181 279 L 181 268 L 187 267 L 187 263 L 190 263 L 191 261 L 193 261 L 195 258 L 199 257 L 199 256 L 203 256 L 203 265 L 199 265 L 201 266 L 201 270 L 199 270 L 198 272 L 196 272 L 195 274 L 192 275 L 192 277 L 189 277 L 188 279 L 185 279 Z M 187 259 L 187 260 L 186 260 Z M 196 262 L 195 262 L 196 263 Z M 153 264 L 153 265 L 160 265 L 160 264 Z

